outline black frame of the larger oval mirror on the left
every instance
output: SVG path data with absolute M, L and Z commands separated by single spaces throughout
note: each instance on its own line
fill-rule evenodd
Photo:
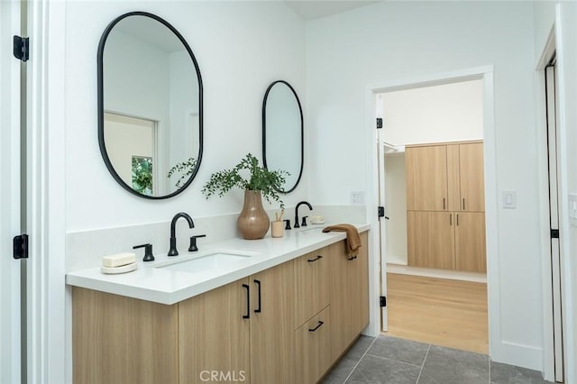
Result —
M 195 167 L 194 171 L 192 172 L 192 174 L 188 178 L 188 181 L 182 187 L 180 187 L 179 189 L 177 189 L 176 191 L 172 192 L 169 195 L 157 197 L 157 196 L 142 195 L 141 193 L 136 192 L 132 187 L 130 187 L 129 185 L 124 183 L 124 180 L 120 177 L 120 175 L 118 175 L 118 173 L 116 172 L 116 169 L 114 169 L 114 166 L 112 165 L 112 162 L 110 161 L 110 158 L 108 157 L 108 152 L 106 151 L 106 146 L 105 146 L 105 110 L 104 110 L 104 60 L 103 60 L 104 59 L 104 51 L 105 51 L 105 42 L 106 42 L 106 39 L 108 38 L 108 35 L 110 34 L 112 29 L 114 28 L 114 26 L 117 23 L 119 23 L 120 21 L 124 20 L 126 17 L 130 17 L 130 16 L 150 17 L 151 19 L 154 19 L 157 22 L 162 23 L 164 26 L 166 26 L 172 33 L 174 33 L 177 36 L 177 38 L 179 38 L 179 41 L 182 43 L 182 45 L 188 51 L 188 55 L 190 56 L 190 59 L 192 59 L 192 62 L 194 63 L 195 69 L 197 71 L 197 79 L 198 79 L 198 131 L 199 131 L 198 132 L 197 167 Z M 135 11 L 135 12 L 129 12 L 127 14 L 122 14 L 122 15 L 116 17 L 111 23 L 109 23 L 106 26 L 105 32 L 102 33 L 102 37 L 100 38 L 100 42 L 98 43 L 97 89 L 98 89 L 98 91 L 97 91 L 97 99 L 98 99 L 97 100 L 98 145 L 100 147 L 100 153 L 102 154 L 102 158 L 103 158 L 103 160 L 105 160 L 106 168 L 110 171 L 110 174 L 118 182 L 118 184 L 120 184 L 122 187 L 124 187 L 124 189 L 126 189 L 127 191 L 129 191 L 130 193 L 132 193 L 135 196 L 144 197 L 144 198 L 151 199 L 151 200 L 161 200 L 161 199 L 165 199 L 165 198 L 169 198 L 169 197 L 175 197 L 175 196 L 179 195 L 180 192 L 184 191 L 190 185 L 190 183 L 192 183 L 192 180 L 197 176 L 198 169 L 200 168 L 200 162 L 202 160 L 202 151 L 203 151 L 203 97 L 202 97 L 203 86 L 202 86 L 202 77 L 200 76 L 200 69 L 198 68 L 197 59 L 195 58 L 194 53 L 192 53 L 192 50 L 188 46 L 187 41 L 184 39 L 184 37 L 182 37 L 180 32 L 177 31 L 176 28 L 174 28 L 169 22 L 162 19 L 160 16 L 157 16 L 156 14 L 150 14 L 148 12 Z

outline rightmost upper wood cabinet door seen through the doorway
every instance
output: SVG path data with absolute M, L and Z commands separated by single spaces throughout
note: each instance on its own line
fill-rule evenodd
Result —
M 460 211 L 483 212 L 485 189 L 482 142 L 459 145 Z

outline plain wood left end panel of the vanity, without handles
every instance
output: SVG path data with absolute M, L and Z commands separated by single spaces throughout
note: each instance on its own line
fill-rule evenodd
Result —
M 178 308 L 72 289 L 75 383 L 177 383 Z

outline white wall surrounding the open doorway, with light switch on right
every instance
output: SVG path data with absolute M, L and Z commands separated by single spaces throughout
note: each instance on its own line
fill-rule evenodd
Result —
M 521 2 L 383 2 L 307 23 L 308 152 L 316 200 L 345 204 L 367 185 L 365 92 L 376 82 L 494 66 L 496 195 L 517 190 L 517 209 L 498 210 L 497 330 L 491 357 L 542 366 L 536 183 L 533 7 Z M 490 315 L 494 315 L 491 313 Z M 495 330 L 493 330 L 495 331 Z

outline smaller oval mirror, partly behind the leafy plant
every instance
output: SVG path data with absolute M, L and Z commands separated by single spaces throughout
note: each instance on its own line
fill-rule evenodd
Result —
M 270 84 L 264 95 L 262 154 L 267 169 L 289 172 L 279 192 L 293 191 L 303 172 L 303 111 L 297 92 L 283 80 Z

